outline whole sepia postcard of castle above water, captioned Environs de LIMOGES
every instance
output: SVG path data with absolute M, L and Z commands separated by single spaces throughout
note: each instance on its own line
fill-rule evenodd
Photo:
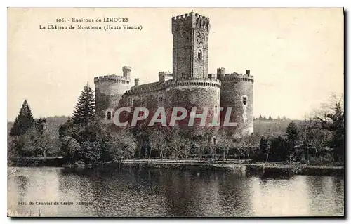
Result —
M 7 9 L 7 216 L 345 217 L 344 8 Z

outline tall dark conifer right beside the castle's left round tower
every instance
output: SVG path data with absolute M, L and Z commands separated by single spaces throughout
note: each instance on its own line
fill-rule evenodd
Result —
M 81 91 L 77 105 L 74 109 L 72 121 L 75 124 L 87 124 L 95 119 L 95 97 L 94 92 L 87 83 L 84 91 Z

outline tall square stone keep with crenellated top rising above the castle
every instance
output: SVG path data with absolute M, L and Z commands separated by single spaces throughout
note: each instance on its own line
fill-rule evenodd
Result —
M 172 18 L 173 79 L 207 78 L 208 17 L 191 12 Z

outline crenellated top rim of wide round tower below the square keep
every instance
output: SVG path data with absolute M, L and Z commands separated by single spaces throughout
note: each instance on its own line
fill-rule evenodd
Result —
M 182 80 L 166 81 L 166 88 L 178 88 L 183 86 L 204 86 L 220 88 L 220 80 L 206 78 L 189 78 Z

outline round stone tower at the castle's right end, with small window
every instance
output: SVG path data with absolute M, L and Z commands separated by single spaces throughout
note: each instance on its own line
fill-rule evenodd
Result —
M 223 125 L 225 115 L 232 108 L 230 123 L 237 126 L 223 126 L 234 135 L 247 136 L 253 133 L 253 76 L 250 70 L 246 74 L 223 74 L 223 68 L 219 68 L 221 81 L 220 107 L 223 107 L 220 119 Z

